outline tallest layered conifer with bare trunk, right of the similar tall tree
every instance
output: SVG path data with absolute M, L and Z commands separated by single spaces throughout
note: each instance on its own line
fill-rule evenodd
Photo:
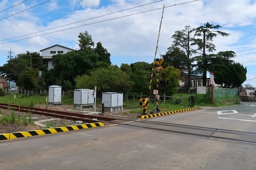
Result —
M 193 39 L 193 43 L 191 45 L 198 46 L 197 50 L 200 50 L 202 52 L 202 58 L 198 57 L 198 59 L 201 59 L 199 62 L 201 62 L 198 67 L 200 67 L 198 70 L 202 71 L 202 77 L 203 77 L 203 86 L 206 86 L 207 83 L 207 56 L 206 51 L 213 52 L 215 49 L 215 45 L 212 43 L 213 38 L 216 36 L 228 36 L 229 34 L 222 31 L 215 31 L 217 29 L 220 29 L 220 25 L 213 25 L 209 24 L 207 22 L 206 24 L 197 27 L 195 29 L 195 39 Z

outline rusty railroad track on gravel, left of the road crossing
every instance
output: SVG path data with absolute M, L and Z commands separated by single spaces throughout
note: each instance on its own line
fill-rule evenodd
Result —
M 118 118 L 109 118 L 109 117 L 101 117 L 95 115 L 84 115 L 81 113 L 72 113 L 67 111 L 59 111 L 59 110 L 48 110 L 42 108 L 34 108 L 34 107 L 26 107 L 26 106 L 18 106 L 14 104 L 3 104 L 0 103 L 0 108 L 5 110 L 15 110 L 15 111 L 22 111 L 26 113 L 38 114 L 38 115 L 45 115 L 50 117 L 62 118 L 67 120 L 81 120 L 83 122 L 111 122 L 113 120 L 118 120 Z

